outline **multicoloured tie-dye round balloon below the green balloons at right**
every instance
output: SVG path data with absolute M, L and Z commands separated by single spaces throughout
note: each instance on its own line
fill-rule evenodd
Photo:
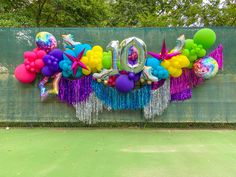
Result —
M 218 72 L 218 63 L 211 57 L 202 58 L 193 64 L 193 70 L 198 77 L 212 78 Z

